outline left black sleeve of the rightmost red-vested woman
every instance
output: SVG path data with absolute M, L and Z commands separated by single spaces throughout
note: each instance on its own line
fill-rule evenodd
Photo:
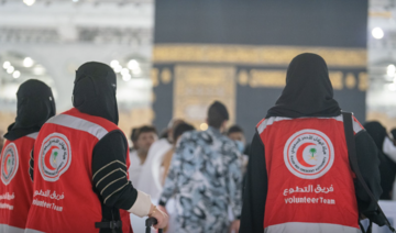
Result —
M 255 133 L 251 144 L 243 191 L 240 233 L 264 232 L 264 209 L 268 182 L 264 152 L 263 142 Z

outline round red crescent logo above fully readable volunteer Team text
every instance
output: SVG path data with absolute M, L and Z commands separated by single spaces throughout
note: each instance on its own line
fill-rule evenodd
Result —
M 286 167 L 302 179 L 323 176 L 334 162 L 334 148 L 329 137 L 317 130 L 302 130 L 290 136 L 284 148 Z

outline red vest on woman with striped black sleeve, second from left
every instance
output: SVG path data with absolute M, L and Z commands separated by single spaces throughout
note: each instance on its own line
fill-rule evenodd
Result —
M 34 146 L 33 202 L 26 232 L 99 232 L 95 222 L 100 222 L 102 214 L 92 191 L 92 151 L 113 130 L 119 127 L 112 122 L 75 108 L 43 125 Z M 129 213 L 120 210 L 120 214 L 122 231 L 131 233 Z

